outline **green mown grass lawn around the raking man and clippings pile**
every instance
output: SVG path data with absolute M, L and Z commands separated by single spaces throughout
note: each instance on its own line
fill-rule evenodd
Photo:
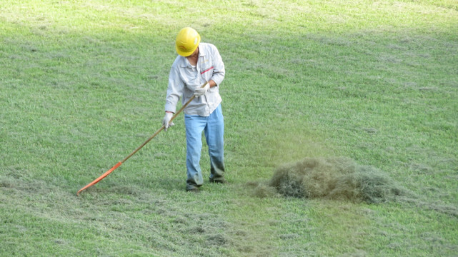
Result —
M 160 128 L 184 26 L 226 65 L 229 183 L 184 191 L 181 116 L 76 197 Z M 458 252 L 457 1 L 4 0 L 0 67 L 0 256 Z M 409 196 L 254 193 L 306 157 Z

